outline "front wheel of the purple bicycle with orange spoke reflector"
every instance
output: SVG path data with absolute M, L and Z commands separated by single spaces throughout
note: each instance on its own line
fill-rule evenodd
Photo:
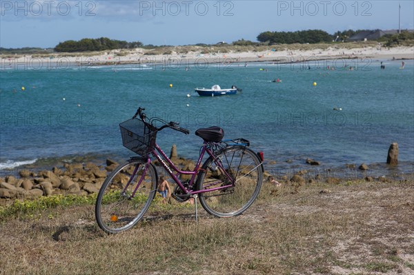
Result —
M 144 217 L 157 190 L 156 171 L 140 159 L 130 159 L 112 171 L 95 205 L 95 217 L 103 231 L 123 232 Z

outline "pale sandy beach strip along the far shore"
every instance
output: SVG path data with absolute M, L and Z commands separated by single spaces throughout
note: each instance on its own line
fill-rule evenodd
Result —
M 274 62 L 295 63 L 328 59 L 414 59 L 414 46 L 386 48 L 373 43 L 339 45 L 277 46 L 177 46 L 155 49 L 110 50 L 103 52 L 52 53 L 34 55 L 1 55 L 1 69 L 64 69 L 72 66 L 164 64 L 198 65 L 208 63 Z

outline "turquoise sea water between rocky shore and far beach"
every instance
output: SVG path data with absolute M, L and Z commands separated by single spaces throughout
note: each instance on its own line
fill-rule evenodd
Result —
M 118 124 L 139 106 L 148 116 L 178 121 L 192 132 L 165 130 L 157 136 L 166 152 L 175 143 L 190 159 L 201 145 L 195 130 L 218 125 L 226 138 L 243 137 L 263 151 L 266 170 L 274 174 L 306 169 L 362 176 L 361 163 L 374 176 L 413 173 L 413 60 L 405 61 L 404 70 L 401 61 L 382 61 L 385 70 L 380 60 L 368 59 L 2 68 L 1 174 L 25 164 L 61 165 L 77 156 L 97 163 L 132 156 L 122 146 Z M 194 92 L 214 84 L 237 85 L 242 92 L 216 97 Z M 400 148 L 397 167 L 385 164 L 393 142 Z M 307 165 L 306 158 L 321 165 Z

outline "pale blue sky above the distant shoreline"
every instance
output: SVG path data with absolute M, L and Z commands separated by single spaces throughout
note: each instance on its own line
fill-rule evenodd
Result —
M 257 41 L 266 31 L 414 29 L 414 1 L 0 0 L 0 47 L 108 37 L 145 45 Z

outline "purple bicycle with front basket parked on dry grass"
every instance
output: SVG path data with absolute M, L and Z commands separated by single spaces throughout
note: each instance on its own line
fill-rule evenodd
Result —
M 123 145 L 139 156 L 115 168 L 99 190 L 95 217 L 104 232 L 128 230 L 146 214 L 158 186 L 157 169 L 151 156 L 177 184 L 172 197 L 181 202 L 195 200 L 196 219 L 197 197 L 204 210 L 217 217 L 237 216 L 253 204 L 262 187 L 262 152 L 251 150 L 246 139 L 223 140 L 224 130 L 217 126 L 201 128 L 195 132 L 204 141 L 195 168 L 180 170 L 157 145 L 157 132 L 165 128 L 184 134 L 190 131 L 177 122 L 167 123 L 157 117 L 148 119 L 144 110 L 138 108 L 132 119 L 119 124 Z M 201 165 L 204 156 L 208 158 Z M 181 181 L 180 176 L 190 179 Z

